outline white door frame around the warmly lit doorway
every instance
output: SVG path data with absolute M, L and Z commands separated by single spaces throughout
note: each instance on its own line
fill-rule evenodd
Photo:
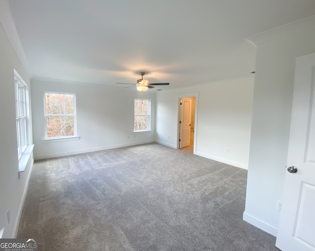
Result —
M 180 139 L 180 132 L 181 132 L 181 127 L 179 124 L 180 118 L 181 118 L 181 102 L 180 99 L 181 98 L 191 98 L 191 97 L 195 97 L 196 98 L 196 104 L 195 104 L 195 124 L 194 124 L 194 133 L 193 133 L 193 154 L 196 154 L 196 142 L 197 142 L 197 121 L 198 121 L 198 96 L 199 96 L 199 92 L 189 92 L 189 93 L 183 93 L 183 94 L 178 94 L 177 95 L 177 102 L 178 102 L 178 106 L 177 106 L 177 144 L 176 144 L 176 148 L 180 149 L 180 143 L 179 143 L 179 139 Z

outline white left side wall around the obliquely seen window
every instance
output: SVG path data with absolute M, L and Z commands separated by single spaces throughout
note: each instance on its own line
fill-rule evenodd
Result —
M 19 178 L 14 69 L 30 86 L 29 76 L 0 25 L 0 232 L 4 228 L 2 238 L 15 237 L 33 163 L 31 156 L 26 170 L 20 173 Z M 9 224 L 7 222 L 8 210 L 10 210 L 11 218 Z

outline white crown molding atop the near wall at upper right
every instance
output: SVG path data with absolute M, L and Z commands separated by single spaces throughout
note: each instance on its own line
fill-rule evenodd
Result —
M 260 32 L 258 34 L 246 37 L 245 39 L 252 42 L 254 45 L 258 45 L 267 41 L 313 28 L 315 28 L 315 15 Z

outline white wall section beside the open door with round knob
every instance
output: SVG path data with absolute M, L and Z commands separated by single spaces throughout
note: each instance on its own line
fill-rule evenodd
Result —
M 295 58 L 315 52 L 315 29 L 257 45 L 244 220 L 277 235 L 289 140 Z

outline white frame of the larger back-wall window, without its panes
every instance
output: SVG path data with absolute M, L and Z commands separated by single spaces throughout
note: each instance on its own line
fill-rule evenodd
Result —
M 73 114 L 46 114 L 46 93 L 52 94 L 65 94 L 65 95 L 73 95 Z M 76 94 L 71 92 L 60 92 L 60 91 L 44 91 L 44 126 L 45 126 L 45 136 L 44 140 L 49 140 L 53 142 L 54 140 L 58 139 L 71 139 L 71 138 L 78 138 L 77 136 L 77 122 L 76 122 Z M 64 116 L 73 116 L 73 135 L 70 136 L 59 136 L 59 137 L 47 137 L 47 117 L 64 117 Z

